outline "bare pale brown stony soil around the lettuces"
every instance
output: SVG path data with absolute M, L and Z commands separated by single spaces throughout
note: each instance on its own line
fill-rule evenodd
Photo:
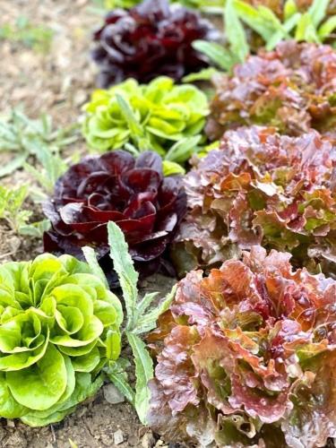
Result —
M 47 112 L 55 125 L 71 125 L 77 120 L 82 104 L 95 87 L 96 69 L 90 62 L 90 41 L 101 17 L 92 12 L 92 5 L 91 0 L 0 0 L 0 27 L 25 17 L 33 25 L 54 31 L 51 46 L 45 53 L 22 43 L 0 40 L 1 115 L 23 105 L 30 117 Z M 85 151 L 84 142 L 76 142 L 70 151 Z M 22 171 L 0 182 L 33 184 L 30 176 Z M 35 213 L 39 215 L 39 209 Z M 0 263 L 28 260 L 41 252 L 39 240 L 18 237 L 0 223 Z M 173 283 L 172 279 L 156 276 L 143 282 L 142 289 L 155 289 L 163 294 Z M 128 403 L 109 404 L 104 398 L 104 388 L 92 401 L 83 403 L 72 416 L 56 425 L 30 428 L 20 421 L 1 420 L 1 448 L 71 446 L 173 448 L 177 445 L 166 444 L 141 426 Z

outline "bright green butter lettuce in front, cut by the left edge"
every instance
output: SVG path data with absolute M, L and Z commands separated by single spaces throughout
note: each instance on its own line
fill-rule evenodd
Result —
M 122 321 L 117 297 L 72 256 L 0 266 L 0 417 L 64 418 L 118 358 Z

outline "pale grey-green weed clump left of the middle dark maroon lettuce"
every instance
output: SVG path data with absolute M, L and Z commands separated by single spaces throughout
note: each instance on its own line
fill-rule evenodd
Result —
M 52 193 L 56 180 L 68 167 L 61 150 L 77 140 L 76 127 L 55 129 L 51 116 L 42 115 L 34 120 L 20 108 L 13 108 L 9 116 L 0 117 L 0 158 L 4 158 L 0 178 L 24 168 L 39 183 L 39 188 L 30 185 L 29 189 L 27 186 L 1 186 L 0 219 L 6 220 L 13 231 L 24 236 L 42 237 L 49 228 L 48 220 L 28 224 L 31 212 L 22 208 L 23 202 L 28 194 L 39 202 Z

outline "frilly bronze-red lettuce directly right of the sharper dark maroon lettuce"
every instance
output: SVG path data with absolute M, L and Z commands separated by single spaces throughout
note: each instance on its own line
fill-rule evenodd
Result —
M 290 252 L 297 267 L 335 273 L 335 164 L 336 145 L 313 130 L 300 137 L 262 126 L 228 131 L 185 177 L 189 211 L 172 251 L 178 270 L 261 244 Z

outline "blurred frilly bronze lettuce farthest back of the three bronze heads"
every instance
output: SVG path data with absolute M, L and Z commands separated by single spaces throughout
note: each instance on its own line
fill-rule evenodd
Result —
M 282 42 L 215 80 L 206 132 L 211 140 L 241 125 L 271 125 L 281 134 L 310 128 L 336 138 L 336 50 Z

